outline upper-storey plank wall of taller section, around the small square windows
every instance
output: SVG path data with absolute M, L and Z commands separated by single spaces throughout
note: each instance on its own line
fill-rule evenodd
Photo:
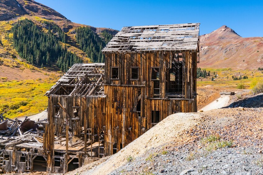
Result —
M 106 54 L 105 82 L 106 85 L 145 85 L 146 96 L 153 97 L 153 81 L 151 68 L 160 68 L 160 98 L 166 95 L 166 73 L 170 67 L 170 58 L 175 53 L 182 53 L 184 59 L 184 95 L 192 99 L 196 93 L 197 52 L 145 52 L 145 53 L 115 53 Z M 119 80 L 111 80 L 111 67 L 119 67 Z M 139 67 L 139 80 L 131 79 L 131 67 Z M 105 91 L 105 94 L 107 92 Z

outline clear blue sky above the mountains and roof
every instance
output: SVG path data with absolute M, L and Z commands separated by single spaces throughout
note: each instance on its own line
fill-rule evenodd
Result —
M 123 26 L 201 23 L 200 35 L 227 25 L 242 37 L 263 37 L 263 0 L 36 0 L 75 23 Z

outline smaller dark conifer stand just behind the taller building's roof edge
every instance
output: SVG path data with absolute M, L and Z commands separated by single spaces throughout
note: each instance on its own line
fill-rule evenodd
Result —
M 104 55 L 101 50 L 106 46 L 107 42 L 113 37 L 112 34 L 103 31 L 101 37 L 96 35 L 89 27 L 79 27 L 76 29 L 76 39 L 91 62 L 104 63 Z

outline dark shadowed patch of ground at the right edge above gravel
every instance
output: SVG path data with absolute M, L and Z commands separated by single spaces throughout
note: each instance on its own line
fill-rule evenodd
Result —
M 261 93 L 260 95 L 239 100 L 222 108 L 229 108 L 229 107 L 248 107 L 248 108 L 263 107 L 263 94 Z

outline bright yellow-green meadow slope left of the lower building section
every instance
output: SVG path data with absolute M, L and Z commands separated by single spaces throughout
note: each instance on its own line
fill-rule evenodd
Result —
M 45 80 L 7 81 L 0 84 L 0 112 L 6 111 L 10 118 L 30 116 L 47 108 L 48 99 L 44 94 L 57 81 L 49 75 Z

